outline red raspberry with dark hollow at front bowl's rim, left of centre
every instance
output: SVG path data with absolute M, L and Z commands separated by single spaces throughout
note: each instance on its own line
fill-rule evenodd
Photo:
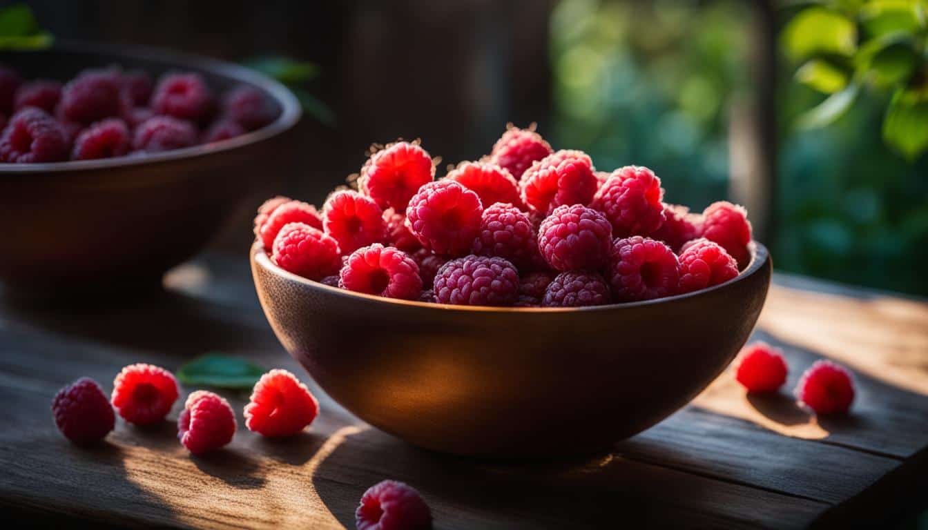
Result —
M 342 286 L 349 291 L 403 300 L 416 300 L 422 292 L 416 260 L 380 243 L 352 252 L 340 276 Z

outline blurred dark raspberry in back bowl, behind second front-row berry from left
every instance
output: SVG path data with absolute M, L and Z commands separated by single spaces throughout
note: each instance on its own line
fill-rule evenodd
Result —
M 119 84 L 110 71 L 84 71 L 61 89 L 61 112 L 69 122 L 94 123 L 121 110 Z

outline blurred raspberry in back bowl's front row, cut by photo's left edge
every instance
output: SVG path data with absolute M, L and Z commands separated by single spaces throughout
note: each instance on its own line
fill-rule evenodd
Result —
M 26 107 L 10 118 L 0 136 L 0 161 L 60 162 L 68 158 L 64 129 L 44 110 Z

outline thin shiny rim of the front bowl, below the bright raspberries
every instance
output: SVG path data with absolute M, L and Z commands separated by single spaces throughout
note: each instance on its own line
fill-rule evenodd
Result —
M 410 307 L 422 307 L 427 309 L 434 309 L 438 311 L 465 311 L 465 312 L 489 312 L 489 313 L 568 313 L 568 312 L 586 312 L 586 311 L 614 311 L 617 309 L 631 309 L 635 307 L 641 307 L 644 305 L 659 305 L 666 304 L 670 302 L 675 302 L 677 300 L 685 300 L 688 298 L 695 298 L 698 296 L 705 295 L 706 293 L 717 291 L 720 289 L 726 289 L 731 285 L 738 283 L 744 278 L 754 276 L 767 262 L 770 261 L 770 253 L 767 251 L 767 247 L 761 244 L 754 239 L 748 244 L 748 250 L 751 252 L 751 263 L 748 266 L 744 267 L 738 276 L 731 278 L 726 282 L 708 287 L 706 289 L 701 289 L 699 291 L 686 292 L 683 294 L 675 294 L 673 296 L 665 296 L 664 298 L 655 298 L 653 300 L 643 300 L 639 302 L 625 302 L 619 304 L 604 304 L 604 305 L 590 305 L 586 307 L 497 307 L 491 305 L 455 305 L 455 304 L 438 304 L 434 302 L 419 302 L 415 300 L 399 300 L 395 298 L 385 298 L 383 296 L 378 296 L 376 294 L 367 294 L 364 292 L 355 292 L 347 291 L 337 287 L 331 287 L 324 283 L 303 278 L 302 276 L 295 275 L 290 273 L 279 266 L 275 265 L 267 253 L 264 252 L 264 245 L 261 241 L 255 241 L 251 245 L 251 261 L 257 265 L 261 266 L 272 275 L 275 275 L 279 278 L 287 279 L 291 282 L 296 282 L 303 284 L 304 286 L 310 289 L 316 289 L 323 292 L 328 292 L 331 295 L 341 296 L 343 298 L 355 298 L 367 300 L 376 304 L 383 305 L 406 305 Z M 252 278 L 253 279 L 253 278 Z

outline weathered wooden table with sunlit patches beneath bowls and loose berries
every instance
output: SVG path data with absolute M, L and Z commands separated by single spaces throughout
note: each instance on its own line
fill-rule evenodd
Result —
M 244 258 L 210 256 L 176 269 L 165 284 L 166 292 L 133 303 L 58 310 L 0 303 L 4 511 L 114 525 L 353 528 L 361 494 L 385 478 L 419 488 L 436 528 L 779 528 L 924 510 L 923 302 L 780 276 L 754 339 L 785 350 L 787 389 L 746 396 L 725 373 L 668 420 L 586 459 L 491 462 L 426 452 L 367 426 L 316 387 L 322 413 L 291 440 L 245 430 L 247 395 L 226 392 L 239 430 L 211 456 L 190 457 L 172 422 L 146 431 L 120 420 L 106 444 L 71 446 L 49 403 L 82 375 L 110 391 L 129 363 L 175 369 L 220 351 L 308 380 L 264 320 Z M 857 375 L 849 417 L 816 419 L 789 395 L 799 374 L 825 356 Z

